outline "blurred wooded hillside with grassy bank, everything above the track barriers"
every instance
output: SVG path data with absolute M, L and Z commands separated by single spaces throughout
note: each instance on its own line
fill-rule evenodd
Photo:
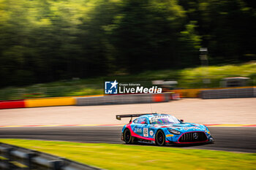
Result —
M 0 100 L 102 94 L 114 79 L 255 85 L 253 2 L 1 0 Z

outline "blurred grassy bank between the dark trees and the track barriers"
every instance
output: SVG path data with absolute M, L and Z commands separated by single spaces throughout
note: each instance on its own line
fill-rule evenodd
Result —
M 140 74 L 124 74 L 109 77 L 97 77 L 81 80 L 63 80 L 26 87 L 9 87 L 0 89 L 0 100 L 56 97 L 56 96 L 85 96 L 102 94 L 105 80 L 118 82 L 137 82 L 150 86 L 151 80 L 177 80 L 178 88 L 218 88 L 224 77 L 250 77 L 248 85 L 254 85 L 256 80 L 256 62 L 225 66 L 196 67 L 180 70 L 147 71 Z M 203 84 L 208 78 L 211 83 Z

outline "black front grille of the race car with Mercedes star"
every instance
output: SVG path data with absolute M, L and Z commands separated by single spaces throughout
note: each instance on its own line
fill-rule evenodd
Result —
M 189 132 L 183 134 L 178 142 L 203 142 L 207 140 L 207 136 L 203 131 Z

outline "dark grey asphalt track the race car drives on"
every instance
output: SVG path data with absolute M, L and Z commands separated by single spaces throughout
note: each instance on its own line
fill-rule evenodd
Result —
M 124 144 L 120 139 L 121 128 L 121 126 L 0 128 L 0 138 Z M 256 152 L 255 127 L 209 127 L 209 130 L 214 136 L 214 144 L 170 147 Z

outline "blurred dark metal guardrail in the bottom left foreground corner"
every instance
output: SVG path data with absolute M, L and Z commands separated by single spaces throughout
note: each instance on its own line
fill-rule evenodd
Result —
M 95 170 L 98 168 L 0 142 L 0 169 Z

